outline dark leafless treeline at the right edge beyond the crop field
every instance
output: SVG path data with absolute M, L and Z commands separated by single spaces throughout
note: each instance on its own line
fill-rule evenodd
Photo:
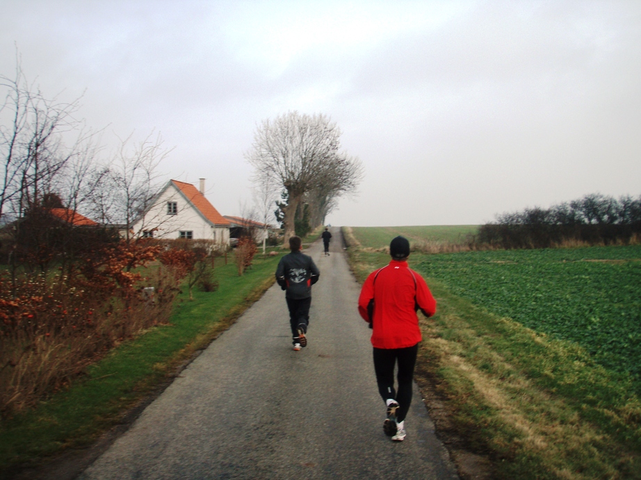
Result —
M 574 242 L 587 245 L 628 244 L 640 240 L 641 196 L 618 200 L 607 195 L 585 195 L 551 208 L 526 208 L 503 213 L 482 225 L 477 245 L 504 249 L 548 248 Z

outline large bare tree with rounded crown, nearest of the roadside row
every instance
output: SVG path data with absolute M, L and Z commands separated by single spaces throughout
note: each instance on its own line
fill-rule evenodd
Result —
M 356 161 L 339 152 L 340 136 L 339 127 L 325 115 L 296 111 L 263 120 L 257 128 L 245 158 L 254 167 L 255 183 L 274 185 L 288 194 L 283 208 L 285 245 L 294 235 L 295 213 L 303 197 L 320 188 L 331 172 L 346 172 L 338 165 Z M 351 186 L 358 180 L 353 179 Z

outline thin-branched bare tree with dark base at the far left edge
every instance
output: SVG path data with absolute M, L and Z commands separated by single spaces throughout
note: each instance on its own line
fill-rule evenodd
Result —
M 19 56 L 15 75 L 0 76 L 0 94 L 0 221 L 17 220 L 3 245 L 15 279 L 25 262 L 40 270 L 54 258 L 64 265 L 98 238 L 71 230 L 72 211 L 86 201 L 89 180 L 99 182 L 101 175 L 94 161 L 97 133 L 76 117 L 79 99 L 45 97 L 26 80 Z M 67 211 L 63 222 L 51 208 Z

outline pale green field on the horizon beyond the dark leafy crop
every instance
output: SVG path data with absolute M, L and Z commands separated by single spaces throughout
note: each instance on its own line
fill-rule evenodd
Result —
M 478 230 L 478 225 L 432 226 L 353 226 L 352 233 L 363 247 L 387 247 L 396 235 L 405 236 L 410 243 L 462 243 Z

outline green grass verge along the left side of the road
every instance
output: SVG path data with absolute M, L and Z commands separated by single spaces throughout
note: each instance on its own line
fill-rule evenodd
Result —
M 90 445 L 124 413 L 166 384 L 193 355 L 227 329 L 273 284 L 280 254 L 257 255 L 238 276 L 232 258 L 216 264 L 216 292 L 185 291 L 170 324 L 124 342 L 88 368 L 86 377 L 31 411 L 0 425 L 0 477 L 38 465 L 65 449 Z M 186 289 L 184 289 L 186 290 Z

